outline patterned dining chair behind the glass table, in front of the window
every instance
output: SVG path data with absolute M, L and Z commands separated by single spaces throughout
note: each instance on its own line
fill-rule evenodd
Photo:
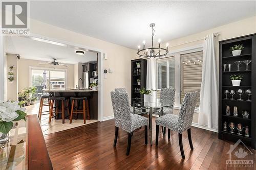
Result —
M 174 104 L 175 101 L 175 88 L 161 88 L 160 91 L 160 100 L 169 100 Z M 153 109 L 154 114 L 157 114 L 159 116 L 165 115 L 165 114 L 173 114 L 173 108 L 172 107 L 164 107 L 163 110 L 161 109 Z M 166 128 L 162 127 L 163 135 L 165 136 L 165 130 Z

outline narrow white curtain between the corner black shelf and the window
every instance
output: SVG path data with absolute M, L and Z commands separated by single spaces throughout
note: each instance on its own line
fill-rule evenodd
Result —
M 156 80 L 156 67 L 157 60 L 152 57 L 147 60 L 146 67 L 146 89 L 156 90 L 157 88 L 157 80 Z M 157 92 L 153 91 L 151 94 L 151 98 L 156 98 Z

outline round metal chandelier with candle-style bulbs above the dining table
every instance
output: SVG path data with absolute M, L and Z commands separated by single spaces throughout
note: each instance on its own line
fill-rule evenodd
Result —
M 158 40 L 159 46 L 153 47 L 153 36 L 155 34 L 155 23 L 151 23 L 150 27 L 152 28 L 152 46 L 145 48 L 145 41 L 143 41 L 143 49 L 140 50 L 140 45 L 138 46 L 138 55 L 139 57 L 145 57 L 150 59 L 151 57 L 160 58 L 168 54 L 168 43 L 166 43 L 166 48 L 161 48 L 160 40 Z

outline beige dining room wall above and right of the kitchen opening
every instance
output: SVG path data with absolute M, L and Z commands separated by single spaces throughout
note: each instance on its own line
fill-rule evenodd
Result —
M 31 20 L 31 32 L 41 36 L 97 48 L 108 54 L 108 59 L 103 61 L 103 69 L 111 68 L 114 72 L 112 74 L 108 73 L 107 78 L 103 79 L 103 117 L 113 115 L 110 92 L 113 91 L 114 88 L 127 88 L 127 92 L 130 95 L 131 59 L 135 58 L 136 50 L 48 25 L 33 19 Z

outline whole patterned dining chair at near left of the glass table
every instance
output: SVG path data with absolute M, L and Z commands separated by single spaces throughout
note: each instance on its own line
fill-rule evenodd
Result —
M 118 130 L 121 128 L 128 133 L 126 155 L 129 155 L 134 130 L 144 126 L 145 144 L 147 144 L 147 118 L 131 112 L 127 93 L 111 91 L 111 100 L 115 118 L 115 138 L 113 145 L 114 147 L 116 146 Z

